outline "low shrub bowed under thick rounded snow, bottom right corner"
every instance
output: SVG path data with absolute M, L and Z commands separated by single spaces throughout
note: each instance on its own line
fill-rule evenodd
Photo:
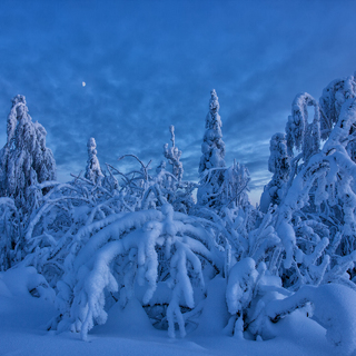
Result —
M 225 332 L 238 338 L 274 338 L 278 336 L 274 325 L 298 309 L 300 317 L 313 317 L 326 329 L 335 354 L 350 355 L 356 348 L 355 296 L 339 284 L 303 286 L 291 293 L 264 263 L 256 267 L 253 258 L 245 258 L 230 270 L 226 301 L 231 316 Z

